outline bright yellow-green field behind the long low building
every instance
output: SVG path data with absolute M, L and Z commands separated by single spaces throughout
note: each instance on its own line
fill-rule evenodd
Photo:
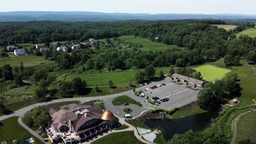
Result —
M 212 65 L 202 65 L 200 67 L 193 68 L 196 71 L 200 71 L 204 80 L 213 81 L 214 79 L 222 79 L 222 77 L 229 73 L 231 70 L 213 67 Z

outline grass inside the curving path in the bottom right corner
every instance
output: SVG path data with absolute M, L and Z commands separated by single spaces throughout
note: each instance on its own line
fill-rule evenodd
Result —
M 241 140 L 250 139 L 252 143 L 256 143 L 256 111 L 247 113 L 237 122 L 236 143 Z

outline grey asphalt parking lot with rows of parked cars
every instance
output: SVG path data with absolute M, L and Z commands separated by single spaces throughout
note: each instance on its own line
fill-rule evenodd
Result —
M 166 86 L 162 85 L 161 87 L 159 87 L 158 85 L 161 85 L 162 83 L 165 83 Z M 150 87 L 153 86 L 157 86 L 158 88 L 151 89 Z M 199 93 L 201 88 L 197 87 L 197 90 L 194 90 L 186 86 L 186 83 L 174 83 L 172 82 L 170 77 L 166 77 L 165 80 L 159 82 L 152 82 L 149 83 L 149 85 L 142 86 L 141 88 L 136 89 L 137 91 L 143 91 L 145 94 L 144 98 L 138 97 L 136 98 L 136 100 L 140 99 L 139 101 L 144 101 L 144 103 L 142 104 L 148 109 L 158 107 L 161 109 L 171 110 L 174 107 L 181 107 L 183 105 L 191 103 L 192 101 L 197 100 L 197 94 Z M 150 90 L 146 91 L 147 88 L 149 88 Z M 147 96 L 149 98 L 158 97 L 160 99 L 168 98 L 170 100 L 165 102 L 158 100 L 161 104 L 152 105 L 147 102 Z

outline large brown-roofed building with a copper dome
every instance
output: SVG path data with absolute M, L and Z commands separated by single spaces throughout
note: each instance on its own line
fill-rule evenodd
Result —
M 92 136 L 100 135 L 112 128 L 114 115 L 89 101 L 71 109 L 61 109 L 59 104 L 44 106 L 50 119 L 45 128 L 53 143 L 81 143 Z

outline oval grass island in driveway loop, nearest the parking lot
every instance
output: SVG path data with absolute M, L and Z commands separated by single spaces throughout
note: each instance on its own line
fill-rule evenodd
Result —
M 113 105 L 123 105 L 124 103 L 135 104 L 137 106 L 142 106 L 142 104 L 138 103 L 138 101 L 136 101 L 136 100 L 134 100 L 134 99 L 132 99 L 132 98 L 126 96 L 126 95 L 114 98 L 113 101 L 112 101 Z

